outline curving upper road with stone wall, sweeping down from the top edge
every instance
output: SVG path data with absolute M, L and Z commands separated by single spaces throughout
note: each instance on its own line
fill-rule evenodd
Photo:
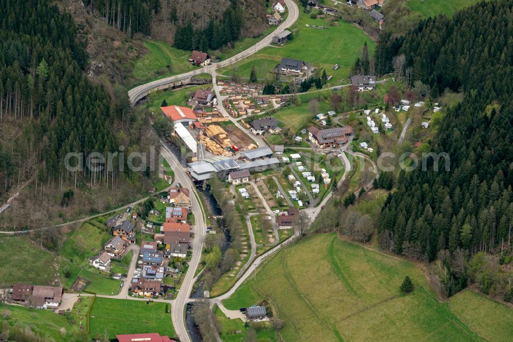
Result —
M 276 30 L 274 30 L 268 36 L 264 37 L 264 39 L 259 41 L 257 44 L 255 44 L 255 45 L 251 46 L 250 48 L 248 48 L 248 49 L 246 49 L 246 50 L 244 50 L 224 61 L 221 61 L 219 63 L 210 64 L 201 69 L 196 69 L 193 71 L 189 71 L 189 72 L 175 75 L 172 77 L 167 77 L 167 78 L 164 78 L 161 80 L 156 80 L 156 81 L 149 82 L 149 83 L 140 85 L 138 87 L 135 87 L 135 88 L 131 89 L 130 91 L 128 91 L 128 96 L 130 98 L 130 102 L 132 104 L 135 104 L 137 101 L 141 100 L 151 90 L 153 90 L 155 88 L 166 87 L 169 84 L 191 78 L 191 77 L 193 77 L 195 75 L 199 75 L 201 73 L 210 73 L 211 71 L 214 71 L 217 68 L 222 68 L 222 67 L 230 65 L 232 63 L 238 62 L 238 61 L 246 58 L 247 56 L 250 56 L 250 55 L 254 54 L 255 52 L 265 48 L 266 46 L 271 44 L 272 37 L 275 34 L 281 33 L 283 30 L 289 28 L 292 24 L 295 23 L 295 21 L 298 20 L 298 17 L 299 17 L 298 5 L 296 5 L 293 0 L 285 0 L 285 4 L 287 5 L 287 9 L 288 9 L 287 19 L 280 26 L 278 26 L 278 28 Z

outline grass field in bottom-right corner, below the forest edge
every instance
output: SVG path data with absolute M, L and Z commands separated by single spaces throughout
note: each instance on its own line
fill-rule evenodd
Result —
M 513 309 L 466 290 L 449 299 L 449 308 L 468 327 L 490 341 L 513 340 Z

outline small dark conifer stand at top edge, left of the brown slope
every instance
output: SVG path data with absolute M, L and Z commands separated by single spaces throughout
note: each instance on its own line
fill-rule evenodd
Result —
M 160 0 L 87 0 L 84 5 L 130 37 L 136 32 L 150 35 L 151 18 L 160 10 Z

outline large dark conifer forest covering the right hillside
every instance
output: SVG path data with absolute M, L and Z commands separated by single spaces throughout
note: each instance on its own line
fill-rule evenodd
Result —
M 376 65 L 391 71 L 404 54 L 412 81 L 461 91 L 431 143 L 450 156 L 450 170 L 429 159 L 427 172 L 401 172 L 379 231 L 386 248 L 435 260 L 441 251 L 509 251 L 513 246 L 513 3 L 484 2 L 423 21 L 404 38 L 380 38 Z M 397 60 L 396 60 L 397 61 Z M 383 73 L 382 72 L 382 73 Z M 491 281 L 488 281 L 491 283 Z M 453 284 L 454 289 L 458 286 Z M 488 288 L 489 290 L 489 288 Z M 451 291 L 449 291 L 450 293 Z M 486 292 L 486 291 L 485 291 Z

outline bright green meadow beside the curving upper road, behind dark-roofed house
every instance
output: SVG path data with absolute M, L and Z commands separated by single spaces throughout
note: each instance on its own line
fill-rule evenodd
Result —
M 361 55 L 365 42 L 369 53 L 374 53 L 374 43 L 362 30 L 350 23 L 340 21 L 324 30 L 306 27 L 306 24 L 324 26 L 325 22 L 323 19 L 312 19 L 309 14 L 300 13 L 298 21 L 292 27 L 295 30 L 292 41 L 283 47 L 262 49 L 250 61 L 244 60 L 235 66 L 221 69 L 219 73 L 232 75 L 235 68 L 235 73 L 241 78 L 249 78 L 249 72 L 254 65 L 258 71 L 257 77 L 265 79 L 279 64 L 280 58 L 288 57 L 326 69 L 328 75 L 333 75 L 331 83 L 337 83 L 348 77 L 349 70 Z M 339 64 L 338 70 L 333 70 L 335 64 Z

